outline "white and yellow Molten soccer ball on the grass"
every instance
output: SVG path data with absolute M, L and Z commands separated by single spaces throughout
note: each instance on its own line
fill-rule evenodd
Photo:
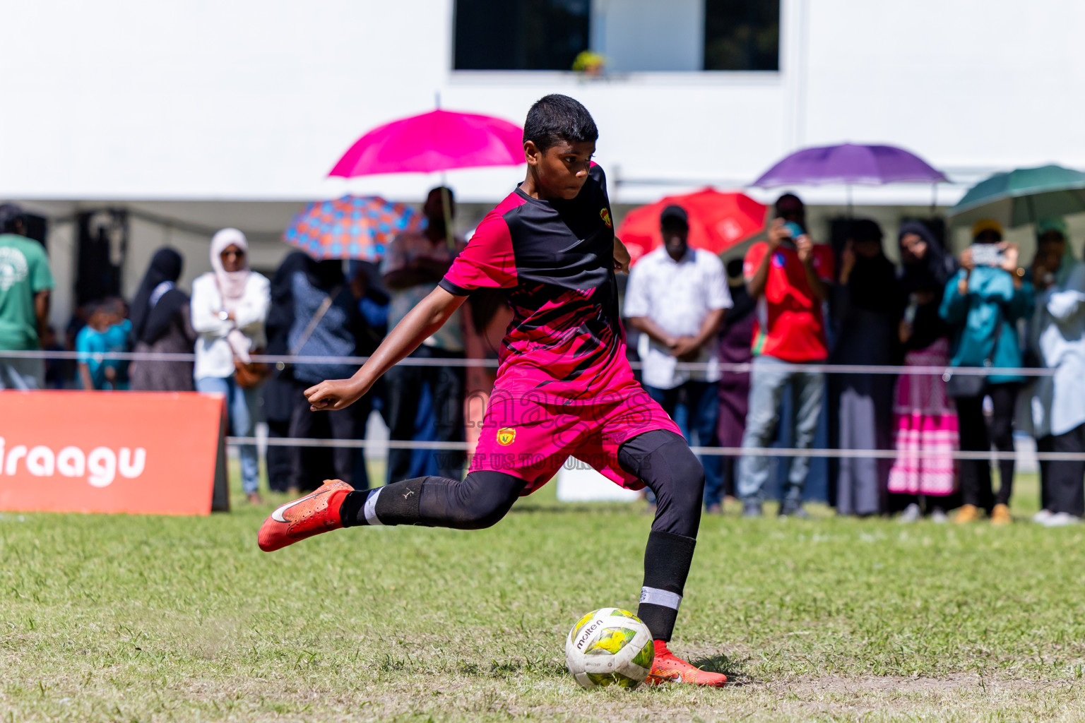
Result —
M 616 607 L 593 610 L 565 638 L 565 664 L 580 687 L 635 688 L 652 670 L 655 646 L 640 618 Z

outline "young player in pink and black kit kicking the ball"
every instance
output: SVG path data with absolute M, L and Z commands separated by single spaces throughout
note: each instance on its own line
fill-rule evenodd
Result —
M 420 477 L 354 491 L 330 480 L 282 505 L 261 550 L 363 525 L 480 529 L 501 519 L 575 455 L 623 487 L 655 492 L 637 615 L 655 638 L 649 680 L 723 685 L 667 649 L 701 520 L 704 472 L 678 427 L 637 384 L 618 323 L 614 237 L 599 131 L 587 108 L 547 95 L 524 124 L 527 176 L 478 225 L 438 287 L 349 379 L 306 390 L 314 410 L 341 410 L 369 391 L 477 288 L 502 288 L 514 312 L 476 454 L 463 481 Z

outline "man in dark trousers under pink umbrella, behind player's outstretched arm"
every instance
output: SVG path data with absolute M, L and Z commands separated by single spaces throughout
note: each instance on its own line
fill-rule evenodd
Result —
M 445 199 L 448 218 L 455 216 L 452 192 L 433 189 L 422 206 L 426 227 L 421 232 L 406 232 L 396 236 L 385 251 L 381 273 L 391 295 L 388 328 L 407 315 L 407 312 L 437 287 L 452 259 L 463 248 L 461 238 L 450 238 L 446 228 Z M 411 357 L 414 359 L 463 359 L 463 330 L 457 311 L 433 336 L 422 343 Z M 414 417 L 422 387 L 430 387 L 433 404 L 436 441 L 463 441 L 463 367 L 452 365 L 407 366 L 397 365 L 384 375 L 385 418 L 390 438 L 407 441 L 414 438 Z M 463 476 L 463 455 L 442 451 L 437 455 L 436 474 L 459 479 Z M 388 481 L 397 482 L 411 476 L 411 451 L 388 450 Z

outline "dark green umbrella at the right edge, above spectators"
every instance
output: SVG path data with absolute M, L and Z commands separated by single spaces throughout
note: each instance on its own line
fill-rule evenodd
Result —
M 1085 173 L 1062 166 L 1018 168 L 986 178 L 949 209 L 956 223 L 993 218 L 1016 227 L 1085 211 Z

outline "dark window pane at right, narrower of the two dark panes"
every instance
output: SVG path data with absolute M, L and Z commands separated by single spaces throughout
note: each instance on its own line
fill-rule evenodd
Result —
M 705 70 L 779 70 L 780 0 L 704 0 Z

